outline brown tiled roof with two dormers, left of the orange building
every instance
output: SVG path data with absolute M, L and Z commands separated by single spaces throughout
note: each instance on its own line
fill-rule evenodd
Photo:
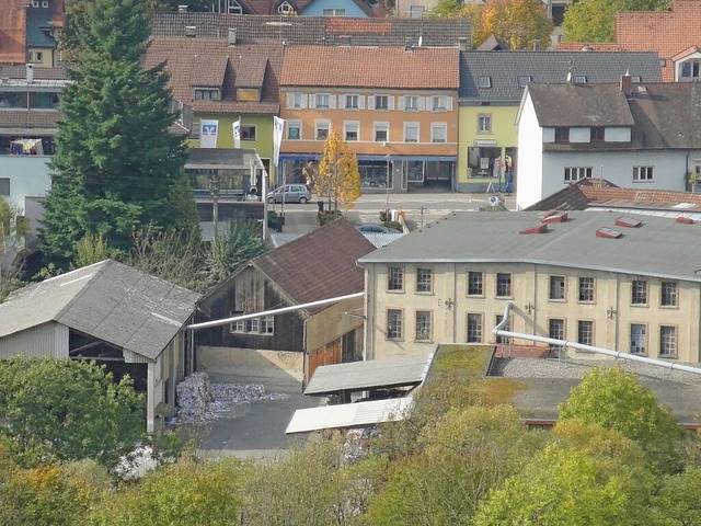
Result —
M 281 61 L 283 46 L 274 42 L 229 46 L 226 38 L 158 37 L 152 39 L 143 66 L 165 62 L 173 99 L 196 112 L 274 114 L 279 111 Z M 196 85 L 219 87 L 221 100 L 195 101 Z M 239 87 L 261 89 L 261 101 L 238 102 Z

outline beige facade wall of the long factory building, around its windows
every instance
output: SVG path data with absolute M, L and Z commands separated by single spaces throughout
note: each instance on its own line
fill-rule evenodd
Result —
M 397 264 L 392 264 L 398 266 Z M 434 293 L 416 294 L 416 267 L 433 267 Z M 647 356 L 659 356 L 659 332 L 662 325 L 677 328 L 677 358 L 680 362 L 701 359 L 701 289 L 698 283 L 674 281 L 678 285 L 678 306 L 660 306 L 662 278 L 624 273 L 590 271 L 556 265 L 526 263 L 493 264 L 404 264 L 404 291 L 387 290 L 387 264 L 367 266 L 366 281 L 369 297 L 366 327 L 366 355 L 368 359 L 387 356 L 429 352 L 435 343 L 462 343 L 467 341 L 467 315 L 482 316 L 483 342 L 494 342 L 491 334 L 497 316 L 504 313 L 507 301 L 512 301 L 510 329 L 516 332 L 549 335 L 549 320 L 562 319 L 565 339 L 576 341 L 579 320 L 591 321 L 594 345 L 629 352 L 631 348 L 631 324 L 644 324 L 647 334 Z M 468 296 L 468 272 L 483 273 L 482 297 Z M 512 296 L 497 298 L 496 274 L 512 274 Z M 565 276 L 565 298 L 549 299 L 550 277 Z M 594 301 L 578 300 L 579 277 L 595 279 Z M 631 304 L 633 279 L 647 281 L 647 305 Z M 387 339 L 387 310 L 401 309 L 404 334 L 401 340 Z M 434 320 L 433 341 L 414 340 L 416 310 L 430 310 Z M 527 343 L 527 342 L 520 342 Z M 582 354 L 582 353 L 577 353 Z M 595 355 L 585 354 L 587 357 Z

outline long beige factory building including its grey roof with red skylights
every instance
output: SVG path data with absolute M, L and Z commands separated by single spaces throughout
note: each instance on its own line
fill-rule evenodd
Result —
M 452 214 L 359 260 L 366 358 L 496 342 L 510 301 L 515 332 L 699 362 L 700 242 L 683 219 Z

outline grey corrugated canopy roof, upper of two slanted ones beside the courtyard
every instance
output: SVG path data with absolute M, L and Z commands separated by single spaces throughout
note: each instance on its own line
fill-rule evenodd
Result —
M 363 390 L 421 384 L 434 354 L 399 356 L 317 367 L 304 395 L 326 395 L 341 390 Z

